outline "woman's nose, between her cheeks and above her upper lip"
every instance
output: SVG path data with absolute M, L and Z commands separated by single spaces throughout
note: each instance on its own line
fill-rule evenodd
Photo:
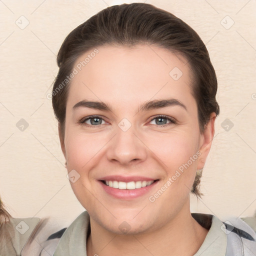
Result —
M 107 159 L 122 165 L 144 161 L 146 159 L 146 145 L 136 133 L 132 125 L 126 131 L 117 126 L 115 136 L 108 143 Z

